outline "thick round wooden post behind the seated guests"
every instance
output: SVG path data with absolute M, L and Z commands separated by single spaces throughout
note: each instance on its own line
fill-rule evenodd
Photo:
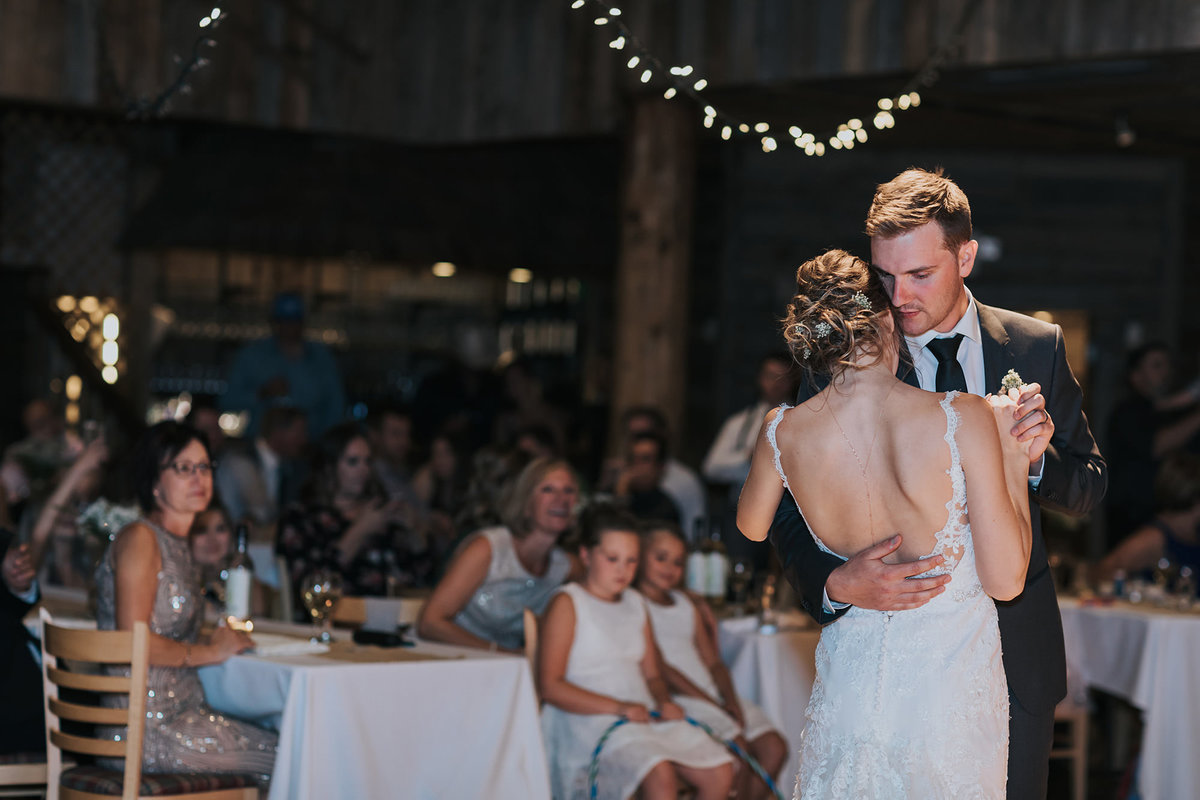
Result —
M 658 405 L 676 431 L 683 427 L 697 114 L 660 97 L 634 104 L 620 201 L 612 445 L 630 405 Z

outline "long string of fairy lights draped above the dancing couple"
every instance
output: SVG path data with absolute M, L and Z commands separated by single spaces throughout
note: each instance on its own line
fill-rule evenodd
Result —
M 919 90 L 932 86 L 937 82 L 942 66 L 956 52 L 962 41 L 962 34 L 980 2 L 982 0 L 971 0 L 964 7 L 958 24 L 946 42 L 925 60 L 925 64 L 896 95 L 878 98 L 870 115 L 871 125 L 876 131 L 895 127 L 898 114 L 920 106 Z M 775 128 L 769 122 L 743 120 L 702 95 L 708 88 L 708 79 L 700 76 L 694 66 L 690 64 L 667 65 L 656 58 L 625 24 L 619 7 L 610 5 L 605 0 L 571 0 L 571 8 L 590 11 L 594 14 L 592 22 L 596 28 L 613 31 L 613 38 L 608 42 L 608 47 L 629 55 L 625 66 L 636 71 L 643 84 L 649 84 L 652 80 L 665 82 L 668 84 L 662 92 L 665 98 L 688 97 L 703 108 L 703 126 L 719 128 L 721 139 L 730 140 L 738 136 L 754 136 L 758 138 L 763 152 L 773 152 L 779 149 L 779 142 L 786 136 L 806 156 L 820 157 L 826 154 L 827 146 L 832 150 L 853 150 L 856 145 L 865 144 L 870 138 L 866 125 L 863 124 L 860 116 L 850 118 L 840 122 L 835 130 L 830 128 L 821 133 L 805 130 L 799 125 L 785 125 Z

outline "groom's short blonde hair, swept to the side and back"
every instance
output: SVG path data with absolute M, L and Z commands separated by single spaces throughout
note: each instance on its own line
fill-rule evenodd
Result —
M 929 222 L 942 229 L 946 248 L 956 253 L 971 241 L 971 204 L 959 185 L 942 174 L 913 167 L 875 190 L 866 212 L 866 235 L 892 239 Z

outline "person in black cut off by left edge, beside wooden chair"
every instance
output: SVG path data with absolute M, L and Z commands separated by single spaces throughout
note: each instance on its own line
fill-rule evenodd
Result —
M 46 750 L 42 668 L 36 640 L 22 619 L 38 600 L 36 564 L 17 534 L 0 528 L 0 756 Z

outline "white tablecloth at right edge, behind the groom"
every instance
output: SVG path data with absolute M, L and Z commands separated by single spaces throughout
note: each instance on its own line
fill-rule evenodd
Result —
M 1073 676 L 1142 711 L 1142 799 L 1200 799 L 1200 614 L 1072 600 L 1060 607 Z

